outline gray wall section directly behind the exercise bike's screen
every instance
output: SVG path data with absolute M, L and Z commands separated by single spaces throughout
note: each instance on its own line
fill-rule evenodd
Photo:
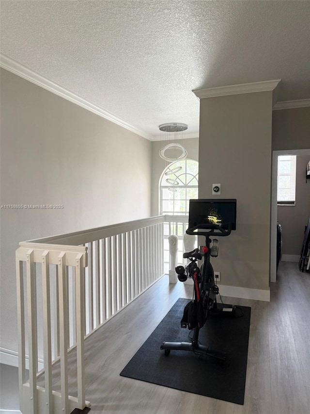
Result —
M 201 99 L 199 198 L 237 199 L 237 230 L 213 263 L 224 285 L 269 287 L 271 123 L 271 92 Z

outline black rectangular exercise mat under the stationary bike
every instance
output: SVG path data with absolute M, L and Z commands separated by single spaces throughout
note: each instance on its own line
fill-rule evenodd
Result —
M 125 366 L 120 375 L 136 380 L 230 401 L 244 403 L 251 308 L 240 306 L 244 316 L 210 315 L 199 333 L 202 345 L 227 353 L 220 363 L 191 351 L 160 349 L 164 341 L 191 342 L 180 321 L 189 299 L 179 298 L 171 310 Z M 237 309 L 237 316 L 242 311 Z

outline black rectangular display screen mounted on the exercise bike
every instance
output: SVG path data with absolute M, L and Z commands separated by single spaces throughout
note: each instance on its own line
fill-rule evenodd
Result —
M 198 225 L 214 229 L 236 230 L 236 199 L 190 199 L 188 229 Z

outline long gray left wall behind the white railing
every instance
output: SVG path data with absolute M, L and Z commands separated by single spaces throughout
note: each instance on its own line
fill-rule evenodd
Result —
M 152 144 L 1 69 L 1 347 L 17 350 L 18 242 L 150 216 Z

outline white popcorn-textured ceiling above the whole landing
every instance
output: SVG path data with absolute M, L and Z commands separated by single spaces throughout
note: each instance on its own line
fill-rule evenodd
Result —
M 310 98 L 310 1 L 1 1 L 1 52 L 131 125 L 199 130 L 192 89 Z

